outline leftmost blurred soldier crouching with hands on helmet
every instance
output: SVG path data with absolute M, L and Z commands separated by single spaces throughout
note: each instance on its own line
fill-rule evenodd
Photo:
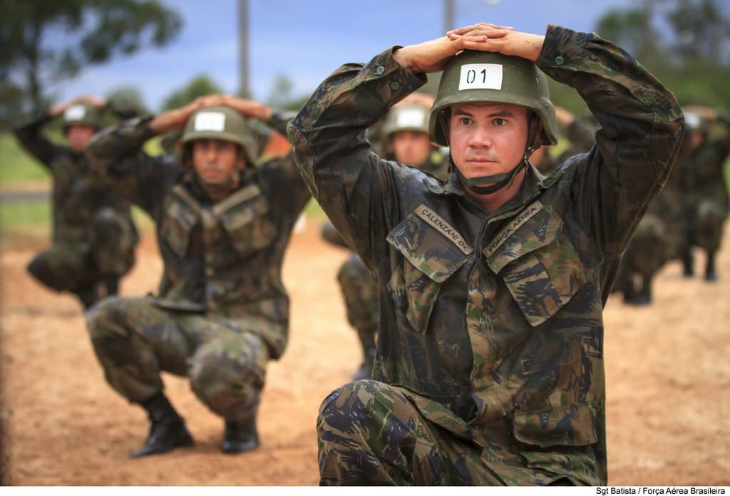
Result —
M 134 266 L 139 241 L 128 202 L 93 171 L 83 153 L 93 133 L 103 127 L 106 109 L 130 117 L 105 98 L 79 96 L 48 107 L 14 130 L 53 179 L 51 246 L 31 260 L 28 271 L 52 290 L 77 295 L 84 309 L 117 294 L 119 279 Z M 67 146 L 53 144 L 43 134 L 58 117 L 63 119 Z

